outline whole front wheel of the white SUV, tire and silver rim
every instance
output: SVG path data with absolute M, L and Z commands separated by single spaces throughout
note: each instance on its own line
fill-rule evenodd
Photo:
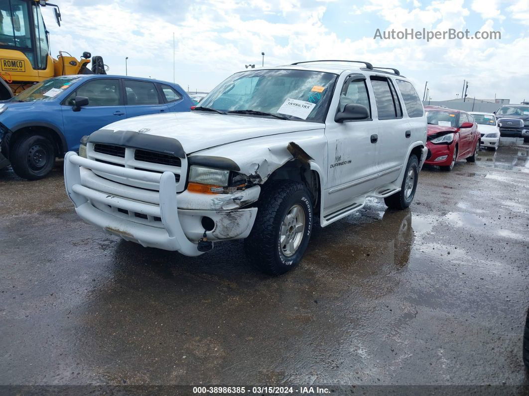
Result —
M 278 182 L 259 198 L 257 218 L 244 241 L 244 250 L 261 271 L 284 274 L 301 261 L 312 222 L 312 197 L 307 187 L 298 182 Z

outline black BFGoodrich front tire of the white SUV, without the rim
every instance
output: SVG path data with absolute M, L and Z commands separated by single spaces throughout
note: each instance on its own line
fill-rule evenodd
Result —
M 313 206 L 311 192 L 303 183 L 278 181 L 265 186 L 257 202 L 257 217 L 244 241 L 248 259 L 270 275 L 281 275 L 293 269 L 302 259 L 311 238 Z M 279 242 L 281 224 L 291 207 L 298 204 L 305 214 L 305 229 L 296 252 L 285 256 Z

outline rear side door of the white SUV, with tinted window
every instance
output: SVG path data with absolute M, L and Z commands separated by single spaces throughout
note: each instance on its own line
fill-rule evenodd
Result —
M 377 162 L 379 185 L 394 181 L 402 168 L 409 146 L 411 125 L 404 118 L 402 104 L 393 81 L 388 77 L 371 76 L 378 117 Z

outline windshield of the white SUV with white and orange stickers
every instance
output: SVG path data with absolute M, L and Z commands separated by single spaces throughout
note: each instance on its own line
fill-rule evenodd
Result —
M 253 110 L 288 119 L 323 122 L 336 77 L 332 73 L 309 70 L 236 73 L 202 99 L 200 106 L 223 112 Z

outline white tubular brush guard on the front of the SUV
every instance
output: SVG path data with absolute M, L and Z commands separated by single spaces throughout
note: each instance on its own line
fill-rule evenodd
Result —
M 81 167 L 127 179 L 159 183 L 160 203 L 148 204 L 84 186 L 81 181 Z M 178 218 L 176 180 L 172 172 L 156 173 L 117 167 L 83 158 L 70 151 L 65 156 L 65 186 L 68 196 L 74 202 L 77 214 L 89 224 L 145 247 L 178 251 L 187 256 L 202 254 L 197 250 L 197 245 L 188 240 L 181 227 Z M 96 208 L 92 202 L 161 218 L 163 227 L 151 227 L 130 222 L 125 218 L 109 216 Z

